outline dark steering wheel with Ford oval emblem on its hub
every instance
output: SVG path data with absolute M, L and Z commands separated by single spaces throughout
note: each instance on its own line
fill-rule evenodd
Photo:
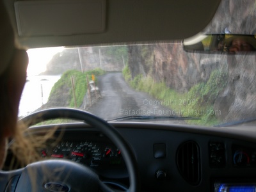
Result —
M 70 108 L 45 109 L 22 118 L 22 121 L 29 123 L 29 126 L 31 126 L 54 118 L 83 120 L 108 136 L 122 150 L 122 157 L 129 173 L 130 185 L 128 191 L 139 191 L 136 158 L 128 143 L 113 126 L 91 113 Z M 0 171 L 0 186 L 4 186 L 3 191 L 6 189 L 6 191 L 15 192 L 47 190 L 70 192 L 112 191 L 90 168 L 72 161 L 52 159 L 28 164 L 28 166 L 19 170 Z

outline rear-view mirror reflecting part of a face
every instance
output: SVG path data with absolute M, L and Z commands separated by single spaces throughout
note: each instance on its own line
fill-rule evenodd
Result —
M 256 51 L 255 35 L 198 34 L 183 40 L 183 48 L 188 52 L 239 54 Z

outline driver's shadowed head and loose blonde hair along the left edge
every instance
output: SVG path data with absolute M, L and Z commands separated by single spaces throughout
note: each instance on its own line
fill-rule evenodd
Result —
M 20 49 L 20 45 L 17 43 L 17 38 L 15 38 L 12 22 L 3 0 L 0 0 L 0 13 L 0 143 L 5 142 L 6 137 L 13 134 L 13 142 L 9 143 L 11 144 L 10 149 L 18 159 L 19 166 L 26 166 L 41 159 L 38 149 L 44 148 L 45 141 L 54 137 L 56 128 L 49 130 L 45 135 L 31 135 L 26 124 L 22 122 L 17 124 L 17 111 L 15 108 L 19 106 L 14 106 L 15 108 L 13 108 L 13 101 L 10 99 L 10 95 L 8 95 L 10 86 L 8 81 L 10 79 L 10 70 L 13 67 L 13 56 L 16 50 Z M 15 164 L 14 160 L 11 161 L 11 167 L 16 168 L 18 165 Z

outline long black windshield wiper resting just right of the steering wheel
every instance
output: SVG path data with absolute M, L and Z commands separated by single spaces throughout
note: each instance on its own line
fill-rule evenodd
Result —
M 191 116 L 144 116 L 144 115 L 130 115 L 122 116 L 107 120 L 107 122 L 123 121 L 123 120 L 201 120 L 201 118 Z

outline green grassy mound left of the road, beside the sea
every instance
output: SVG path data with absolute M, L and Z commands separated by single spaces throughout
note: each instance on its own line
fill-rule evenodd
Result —
M 60 80 L 54 84 L 52 87 L 50 97 L 58 97 L 60 94 L 67 94 L 67 103 L 68 107 L 75 107 L 75 99 L 72 90 L 72 79 L 74 82 L 74 92 L 76 95 L 76 106 L 79 107 L 83 104 L 83 98 L 87 90 L 86 76 L 88 80 L 92 80 L 92 74 L 95 76 L 95 82 L 97 82 L 97 76 L 104 74 L 104 71 L 96 68 L 94 70 L 88 70 L 86 72 L 81 72 L 78 70 L 68 70 L 65 72 Z

